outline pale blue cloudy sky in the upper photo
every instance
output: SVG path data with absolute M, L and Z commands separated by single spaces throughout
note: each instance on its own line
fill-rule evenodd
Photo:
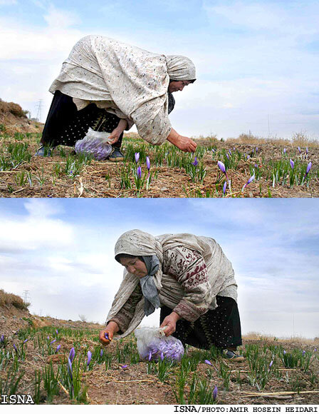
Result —
M 318 19 L 317 0 L 0 0 L 0 98 L 44 122 L 73 45 L 100 34 L 194 61 L 169 116 L 184 136 L 318 139 Z

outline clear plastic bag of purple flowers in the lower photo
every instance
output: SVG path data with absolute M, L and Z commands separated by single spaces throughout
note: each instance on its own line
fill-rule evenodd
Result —
M 179 361 L 184 355 L 182 342 L 174 336 L 165 336 L 164 328 L 140 328 L 135 330 L 137 350 L 142 360 Z

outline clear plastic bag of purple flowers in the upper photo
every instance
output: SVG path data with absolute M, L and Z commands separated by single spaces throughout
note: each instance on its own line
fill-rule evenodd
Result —
M 88 133 L 83 139 L 76 141 L 76 153 L 89 153 L 96 160 L 105 160 L 112 152 L 112 146 L 108 143 L 109 132 L 93 131 L 88 128 Z

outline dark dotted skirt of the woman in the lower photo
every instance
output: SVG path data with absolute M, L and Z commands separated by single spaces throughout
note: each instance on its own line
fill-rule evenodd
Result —
M 176 331 L 172 334 L 181 340 L 183 345 L 188 344 L 196 348 L 236 348 L 241 342 L 241 321 L 236 301 L 225 296 L 216 296 L 218 307 L 208 310 L 195 322 L 180 319 L 176 324 Z M 172 309 L 162 306 L 160 323 Z

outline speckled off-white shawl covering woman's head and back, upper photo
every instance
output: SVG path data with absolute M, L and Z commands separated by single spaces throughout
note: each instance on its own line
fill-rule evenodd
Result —
M 107 111 L 135 123 L 140 136 L 163 143 L 171 131 L 169 77 L 195 79 L 195 66 L 184 56 L 153 54 L 104 36 L 85 36 L 63 62 L 52 93 L 73 99 L 104 101 Z M 189 77 L 190 76 L 190 77 Z

